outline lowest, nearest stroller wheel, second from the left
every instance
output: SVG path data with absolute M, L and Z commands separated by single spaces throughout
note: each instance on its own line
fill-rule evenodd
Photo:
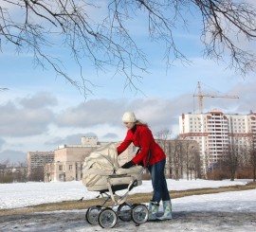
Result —
M 106 207 L 101 210 L 98 222 L 102 228 L 113 228 L 118 222 L 118 216 L 112 208 Z

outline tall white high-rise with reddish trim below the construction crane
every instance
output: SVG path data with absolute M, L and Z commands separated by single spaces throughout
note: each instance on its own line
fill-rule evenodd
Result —
M 256 114 L 229 115 L 218 110 L 205 114 L 179 116 L 179 134 L 199 143 L 202 173 L 225 154 L 230 143 L 237 146 L 256 144 Z

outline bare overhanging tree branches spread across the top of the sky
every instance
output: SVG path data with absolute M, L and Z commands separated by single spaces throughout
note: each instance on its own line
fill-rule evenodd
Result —
M 101 14 L 95 17 L 97 10 Z M 255 54 L 242 46 L 256 37 L 256 10 L 248 0 L 2 0 L 0 49 L 10 44 L 17 52 L 31 52 L 36 64 L 50 65 L 85 92 L 91 82 L 83 76 L 84 57 L 101 70 L 114 67 L 126 78 L 125 86 L 136 88 L 148 62 L 129 23 L 146 21 L 149 38 L 166 45 L 169 67 L 174 60 L 189 62 L 174 32 L 176 27 L 190 29 L 191 15 L 201 19 L 207 58 L 225 60 L 228 55 L 229 67 L 242 74 L 255 68 Z M 81 80 L 66 74 L 62 59 L 50 54 L 47 49 L 54 45 L 70 51 Z

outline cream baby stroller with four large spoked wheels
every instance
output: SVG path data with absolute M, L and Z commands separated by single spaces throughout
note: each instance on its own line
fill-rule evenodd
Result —
M 100 224 L 102 228 L 114 227 L 118 219 L 124 222 L 134 221 L 137 225 L 148 220 L 146 205 L 126 202 L 128 193 L 142 184 L 144 168 L 135 166 L 130 169 L 119 168 L 118 152 L 114 143 L 107 144 L 91 152 L 83 163 L 82 183 L 89 191 L 100 191 L 104 201 L 102 205 L 87 209 L 85 219 L 90 224 Z M 119 190 L 125 190 L 122 196 Z M 112 202 L 112 206 L 105 206 Z

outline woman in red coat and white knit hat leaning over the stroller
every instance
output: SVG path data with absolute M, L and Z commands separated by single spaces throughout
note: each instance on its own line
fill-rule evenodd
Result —
M 135 165 L 147 166 L 152 178 L 154 189 L 153 199 L 149 204 L 149 220 L 172 219 L 172 204 L 164 175 L 166 156 L 160 146 L 155 142 L 148 125 L 137 120 L 133 112 L 126 112 L 122 121 L 128 131 L 123 142 L 118 147 L 118 153 L 124 152 L 131 143 L 139 148 L 136 156 L 121 168 L 129 169 Z M 164 214 L 157 217 L 160 201 L 163 202 Z

